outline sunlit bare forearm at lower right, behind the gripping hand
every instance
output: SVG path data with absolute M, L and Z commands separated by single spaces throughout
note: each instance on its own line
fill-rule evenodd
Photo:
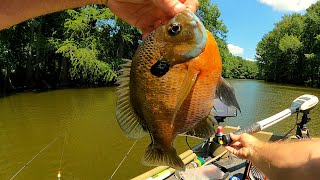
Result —
M 249 159 L 270 179 L 318 179 L 320 141 L 261 143 Z

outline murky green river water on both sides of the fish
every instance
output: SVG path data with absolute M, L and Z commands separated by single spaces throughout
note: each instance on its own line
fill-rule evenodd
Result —
M 228 80 L 236 90 L 242 113 L 226 124 L 247 126 L 273 115 L 302 94 L 320 97 L 320 90 Z M 56 137 L 52 146 L 32 161 L 15 179 L 109 179 L 134 140 L 127 139 L 115 119 L 115 88 L 67 89 L 22 93 L 0 98 L 0 179 L 9 179 Z M 315 108 L 308 124 L 320 136 L 320 111 Z M 268 130 L 284 133 L 295 122 L 292 116 Z M 113 179 L 128 179 L 151 169 L 141 164 L 149 137 L 139 140 Z M 199 141 L 192 141 L 196 144 Z M 188 149 L 185 139 L 178 152 Z M 61 154 L 64 147 L 64 153 Z

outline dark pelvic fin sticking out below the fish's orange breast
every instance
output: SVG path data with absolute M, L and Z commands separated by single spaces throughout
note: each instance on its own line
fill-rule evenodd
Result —
M 216 97 L 218 97 L 225 105 L 233 106 L 241 112 L 233 87 L 223 77 L 220 77 L 216 90 Z

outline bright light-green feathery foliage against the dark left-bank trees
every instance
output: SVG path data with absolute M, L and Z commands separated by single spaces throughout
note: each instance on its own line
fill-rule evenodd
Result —
M 56 53 L 71 62 L 70 77 L 80 84 L 107 84 L 116 77 L 115 70 L 106 62 L 98 59 L 100 27 L 99 19 L 110 19 L 112 13 L 106 9 L 86 6 L 78 10 L 67 10 L 69 18 L 65 20 L 65 36 L 67 38 L 50 39 L 57 48 Z

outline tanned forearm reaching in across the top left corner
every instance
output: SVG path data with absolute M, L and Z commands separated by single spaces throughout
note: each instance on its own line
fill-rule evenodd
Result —
M 104 2 L 106 0 L 1 0 L 0 30 L 37 16 Z

